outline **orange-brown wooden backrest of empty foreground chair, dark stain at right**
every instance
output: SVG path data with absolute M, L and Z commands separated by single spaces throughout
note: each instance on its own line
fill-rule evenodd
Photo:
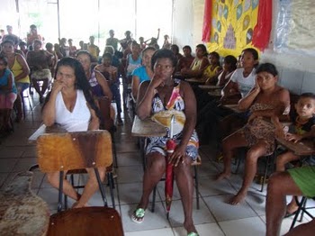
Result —
M 46 133 L 37 140 L 42 172 L 112 165 L 112 138 L 107 131 Z

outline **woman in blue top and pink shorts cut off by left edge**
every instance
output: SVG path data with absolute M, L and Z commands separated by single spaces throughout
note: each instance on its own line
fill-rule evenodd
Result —
M 14 75 L 6 68 L 7 59 L 0 55 L 0 132 L 11 132 L 13 127 L 10 124 L 10 115 L 16 99 L 16 87 Z

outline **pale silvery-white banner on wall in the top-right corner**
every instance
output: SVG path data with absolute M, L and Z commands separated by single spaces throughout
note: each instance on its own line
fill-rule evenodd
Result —
M 313 0 L 281 0 L 278 5 L 274 50 L 315 56 Z

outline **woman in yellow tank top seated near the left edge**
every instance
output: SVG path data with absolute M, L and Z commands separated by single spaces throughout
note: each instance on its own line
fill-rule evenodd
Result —
M 14 102 L 16 107 L 16 122 L 19 123 L 23 119 L 23 91 L 30 86 L 30 68 L 26 63 L 23 55 L 14 52 L 13 41 L 3 41 L 1 54 L 8 61 L 10 70 L 14 73 L 14 82 L 17 89 L 17 96 Z

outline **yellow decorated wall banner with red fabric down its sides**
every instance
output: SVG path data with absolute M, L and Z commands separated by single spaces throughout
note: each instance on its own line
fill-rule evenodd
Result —
M 267 47 L 272 22 L 271 0 L 207 0 L 205 6 L 211 9 L 211 14 L 204 14 L 211 21 L 211 29 L 205 32 L 203 24 L 203 33 L 210 35 L 209 51 L 237 57 L 245 48 L 264 50 Z

